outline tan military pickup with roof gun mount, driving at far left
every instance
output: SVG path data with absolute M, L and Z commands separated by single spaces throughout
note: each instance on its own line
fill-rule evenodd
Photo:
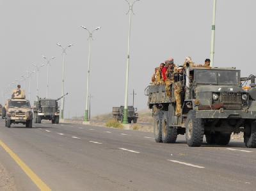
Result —
M 12 124 L 23 124 L 32 128 L 33 112 L 23 91 L 15 90 L 15 95 L 13 93 L 12 99 L 7 100 L 4 108 L 5 126 L 10 128 Z

